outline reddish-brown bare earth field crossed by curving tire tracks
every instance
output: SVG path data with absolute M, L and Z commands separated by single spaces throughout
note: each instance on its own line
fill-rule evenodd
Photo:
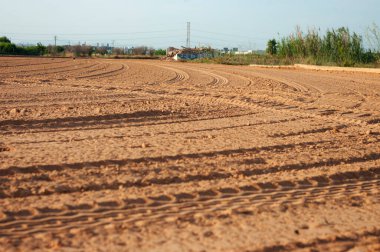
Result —
M 380 75 L 0 58 L 0 250 L 380 251 Z

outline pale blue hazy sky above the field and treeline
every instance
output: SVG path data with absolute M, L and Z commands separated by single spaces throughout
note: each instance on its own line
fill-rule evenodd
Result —
M 263 49 L 296 25 L 364 34 L 380 25 L 380 0 L 0 0 L 0 36 L 16 43 L 156 48 L 191 45 Z

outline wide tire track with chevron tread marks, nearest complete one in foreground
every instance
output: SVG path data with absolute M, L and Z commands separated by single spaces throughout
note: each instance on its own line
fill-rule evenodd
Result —
M 380 169 L 317 176 L 301 181 L 252 183 L 240 187 L 179 192 L 144 198 L 69 205 L 68 209 L 37 209 L 5 212 L 0 237 L 22 238 L 35 233 L 60 232 L 72 228 L 94 228 L 112 224 L 129 226 L 167 223 L 218 214 L 252 214 L 262 206 L 303 205 L 319 200 L 361 194 L 379 198 Z

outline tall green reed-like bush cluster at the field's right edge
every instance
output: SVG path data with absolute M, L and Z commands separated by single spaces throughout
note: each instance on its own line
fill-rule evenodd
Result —
M 323 36 L 314 29 L 304 34 L 297 27 L 295 33 L 278 42 L 269 40 L 267 52 L 292 62 L 307 61 L 317 65 L 354 66 L 378 60 L 378 54 L 364 48 L 362 37 L 345 27 L 327 30 Z

